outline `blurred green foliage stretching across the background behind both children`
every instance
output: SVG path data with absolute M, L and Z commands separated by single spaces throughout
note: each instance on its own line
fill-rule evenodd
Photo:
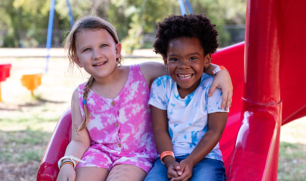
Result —
M 50 1 L 0 1 L 0 42 L 3 47 L 42 47 L 46 44 Z M 147 46 L 144 34 L 156 32 L 157 23 L 171 14 L 181 14 L 176 0 L 69 0 L 77 19 L 95 12 L 117 29 L 124 50 Z M 245 0 L 193 0 L 195 13 L 205 12 L 216 24 L 219 42 L 228 45 L 231 36 L 224 25 L 244 24 Z M 56 0 L 53 46 L 61 46 L 70 29 L 66 0 Z M 146 45 L 145 45 L 146 43 Z M 1 46 L 1 44 L 0 44 Z

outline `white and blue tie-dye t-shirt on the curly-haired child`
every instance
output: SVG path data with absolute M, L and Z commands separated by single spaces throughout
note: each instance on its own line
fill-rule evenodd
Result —
M 208 114 L 228 112 L 220 108 L 221 89 L 216 89 L 213 96 L 207 96 L 212 81 L 212 75 L 203 73 L 199 86 L 184 99 L 178 93 L 177 83 L 169 75 L 161 76 L 152 83 L 148 104 L 167 110 L 169 135 L 175 156 L 193 151 L 208 130 Z M 222 161 L 219 143 L 206 158 Z

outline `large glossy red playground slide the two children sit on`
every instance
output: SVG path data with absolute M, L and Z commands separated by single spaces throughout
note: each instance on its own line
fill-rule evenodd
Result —
M 306 115 L 304 7 L 304 0 L 248 0 L 245 42 L 213 55 L 234 86 L 220 140 L 227 180 L 276 181 L 280 126 Z M 68 109 L 47 145 L 38 180 L 56 180 L 70 128 Z

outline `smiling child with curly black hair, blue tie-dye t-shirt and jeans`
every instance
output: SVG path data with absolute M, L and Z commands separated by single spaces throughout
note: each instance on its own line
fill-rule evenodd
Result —
M 225 180 L 219 140 L 228 117 L 221 89 L 203 73 L 218 47 L 215 25 L 203 14 L 171 15 L 158 25 L 155 52 L 169 75 L 151 86 L 152 127 L 160 158 L 145 180 Z

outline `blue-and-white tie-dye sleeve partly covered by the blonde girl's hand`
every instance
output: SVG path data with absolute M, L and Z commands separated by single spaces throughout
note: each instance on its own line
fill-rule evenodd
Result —
M 207 101 L 207 112 L 216 113 L 216 112 L 229 112 L 225 111 L 224 108 L 221 109 L 222 102 L 222 92 L 220 88 L 216 88 L 214 94 L 211 97 L 208 97 Z

